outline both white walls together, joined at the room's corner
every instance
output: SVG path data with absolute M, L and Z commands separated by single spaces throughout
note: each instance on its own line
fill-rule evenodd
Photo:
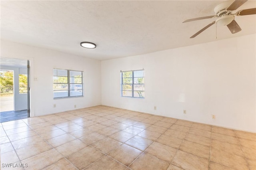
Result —
M 255 34 L 102 62 L 4 40 L 0 52 L 31 62 L 32 117 L 102 104 L 256 132 Z M 84 97 L 54 100 L 53 68 L 84 71 Z M 120 70 L 142 68 L 145 99 L 120 97 Z

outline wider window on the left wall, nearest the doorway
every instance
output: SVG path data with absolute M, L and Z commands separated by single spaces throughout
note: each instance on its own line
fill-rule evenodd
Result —
M 53 98 L 83 96 L 82 71 L 53 69 Z

